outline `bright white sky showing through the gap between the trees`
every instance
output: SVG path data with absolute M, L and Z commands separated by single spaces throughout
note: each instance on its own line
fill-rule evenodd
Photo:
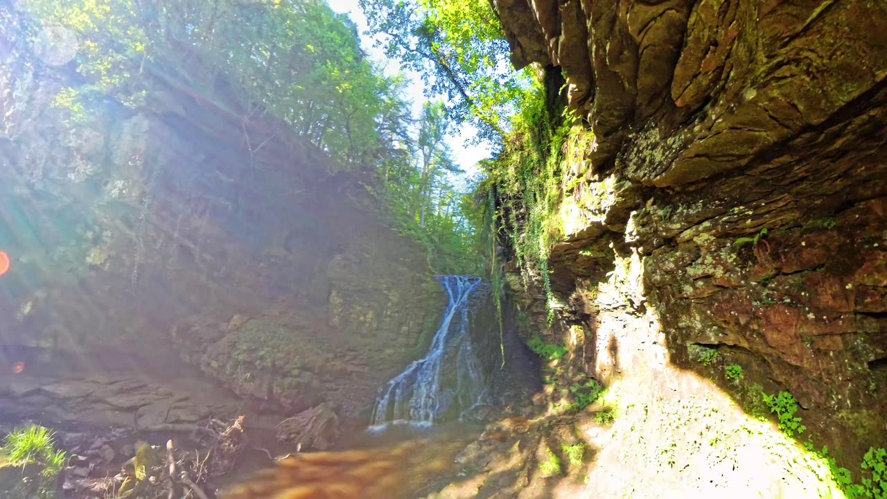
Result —
M 396 60 L 385 57 L 385 54 L 381 49 L 373 46 L 373 39 L 365 35 L 367 28 L 366 18 L 364 17 L 364 13 L 360 10 L 357 0 L 326 0 L 326 3 L 329 4 L 330 8 L 335 12 L 347 13 L 351 20 L 357 24 L 357 29 L 360 32 L 361 46 L 364 48 L 364 51 L 369 54 L 371 59 L 381 63 L 383 67 L 385 67 L 386 74 L 391 75 L 402 71 Z M 402 72 L 411 80 L 409 87 L 407 87 L 407 98 L 412 99 L 413 115 L 418 116 L 422 108 L 422 103 L 428 100 L 423 92 L 424 85 L 422 84 L 420 75 L 417 75 L 412 71 Z M 473 176 L 478 171 L 477 162 L 490 157 L 490 147 L 488 144 L 484 143 L 478 145 L 470 143 L 470 139 L 475 137 L 476 134 L 475 127 L 467 123 L 458 126 L 460 130 L 451 132 L 450 137 L 447 138 L 447 144 L 449 144 L 453 153 L 453 158 L 459 167 L 462 170 L 465 170 L 467 175 Z

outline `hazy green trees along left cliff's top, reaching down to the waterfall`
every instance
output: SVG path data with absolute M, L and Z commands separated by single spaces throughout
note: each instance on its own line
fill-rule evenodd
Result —
M 442 9 L 425 12 L 451 22 Z M 162 9 L 130 0 L 34 0 L 21 12 L 15 25 L 32 35 L 63 26 L 79 41 L 70 65 L 77 78 L 62 79 L 68 86 L 52 102 L 72 126 L 106 117 L 109 103 L 142 109 L 157 89 L 183 89 L 232 112 L 250 162 L 272 138 L 307 142 L 334 160 L 326 163 L 330 173 L 373 178 L 367 189 L 388 207 L 391 224 L 427 250 L 434 273 L 482 271 L 478 210 L 453 180 L 461 170 L 444 143 L 453 115 L 445 103 L 429 102 L 413 116 L 406 78 L 375 67 L 357 26 L 324 0 L 182 0 Z M 507 54 L 504 38 L 500 45 Z M 275 130 L 251 136 L 254 122 Z

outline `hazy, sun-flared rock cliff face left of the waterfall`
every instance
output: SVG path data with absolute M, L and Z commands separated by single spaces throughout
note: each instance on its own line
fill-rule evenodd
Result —
M 349 413 L 418 356 L 443 293 L 371 178 L 169 68 L 145 107 L 77 121 L 53 106 L 76 81 L 4 47 L 4 344 L 172 349 L 236 392 Z

